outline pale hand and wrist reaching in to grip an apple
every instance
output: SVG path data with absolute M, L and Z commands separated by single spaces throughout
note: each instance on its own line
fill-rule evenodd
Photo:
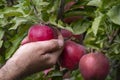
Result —
M 64 45 L 58 32 L 58 39 L 27 43 L 23 40 L 15 54 L 0 69 L 0 80 L 19 80 L 30 74 L 51 68 L 56 64 Z

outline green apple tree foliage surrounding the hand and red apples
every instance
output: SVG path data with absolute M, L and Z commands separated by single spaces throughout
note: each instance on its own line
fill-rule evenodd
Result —
M 71 24 L 58 19 L 61 0 L 11 1 L 13 2 L 0 1 L 1 64 L 13 55 L 32 24 L 48 23 L 74 34 L 85 34 L 83 44 L 88 52 L 102 51 L 110 59 L 111 72 L 106 80 L 116 79 L 116 66 L 120 65 L 120 0 L 75 0 L 76 3 L 62 13 L 64 18 L 82 16 Z M 70 1 L 72 0 L 65 0 L 65 5 Z M 78 70 L 71 73 L 70 80 L 82 80 Z M 47 77 L 53 74 L 56 73 L 51 71 Z M 36 74 L 26 80 L 45 80 L 42 75 Z

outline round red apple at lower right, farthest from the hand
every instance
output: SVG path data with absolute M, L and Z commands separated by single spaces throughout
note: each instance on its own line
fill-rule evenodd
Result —
M 102 53 L 84 55 L 79 63 L 84 80 L 105 80 L 109 73 L 108 58 Z

